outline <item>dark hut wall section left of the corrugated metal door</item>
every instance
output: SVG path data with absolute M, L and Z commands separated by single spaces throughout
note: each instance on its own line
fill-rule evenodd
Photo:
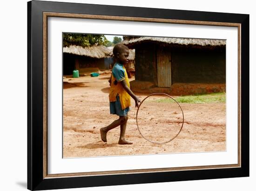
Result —
M 135 80 L 156 82 L 156 51 L 153 43 L 136 45 Z

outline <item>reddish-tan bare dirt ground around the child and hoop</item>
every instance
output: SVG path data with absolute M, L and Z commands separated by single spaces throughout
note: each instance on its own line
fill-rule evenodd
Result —
M 136 125 L 135 103 L 131 98 L 126 139 L 132 145 L 118 145 L 120 127 L 108 132 L 108 142 L 101 141 L 100 128 L 118 119 L 109 114 L 108 78 L 83 76 L 63 79 L 63 157 L 93 157 L 158 153 L 213 152 L 226 150 L 225 103 L 160 103 L 162 96 L 151 96 L 138 113 L 141 134 Z M 134 80 L 133 78 L 130 80 Z M 135 94 L 141 101 L 148 94 Z M 166 97 L 165 97 L 166 98 Z

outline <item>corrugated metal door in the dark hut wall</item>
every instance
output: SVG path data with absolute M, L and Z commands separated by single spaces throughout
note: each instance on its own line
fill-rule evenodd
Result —
M 171 87 L 172 67 L 171 51 L 168 48 L 159 48 L 157 51 L 157 86 Z

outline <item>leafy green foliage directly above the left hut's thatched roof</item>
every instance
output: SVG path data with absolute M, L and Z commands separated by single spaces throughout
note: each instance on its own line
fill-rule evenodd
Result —
M 81 47 L 88 47 L 92 45 L 107 45 L 108 40 L 104 35 L 94 34 L 73 34 L 64 33 L 63 47 L 77 45 Z

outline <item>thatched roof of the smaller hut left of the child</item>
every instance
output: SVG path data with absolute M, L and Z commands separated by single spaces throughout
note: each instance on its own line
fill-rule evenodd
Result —
M 63 52 L 94 58 L 108 57 L 110 54 L 110 50 L 104 46 L 89 46 L 83 48 L 81 46 L 72 45 L 69 47 L 63 47 Z

